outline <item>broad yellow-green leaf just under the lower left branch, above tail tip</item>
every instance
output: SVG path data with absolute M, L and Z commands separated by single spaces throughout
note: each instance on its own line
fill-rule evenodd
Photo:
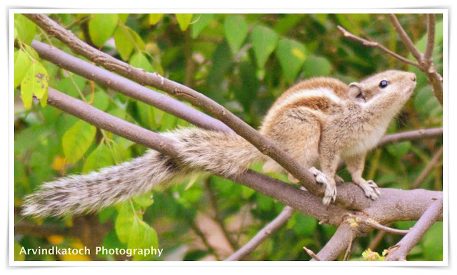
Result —
M 96 128 L 83 120 L 79 120 L 66 131 L 62 140 L 66 160 L 75 164 L 89 149 L 94 140 Z

